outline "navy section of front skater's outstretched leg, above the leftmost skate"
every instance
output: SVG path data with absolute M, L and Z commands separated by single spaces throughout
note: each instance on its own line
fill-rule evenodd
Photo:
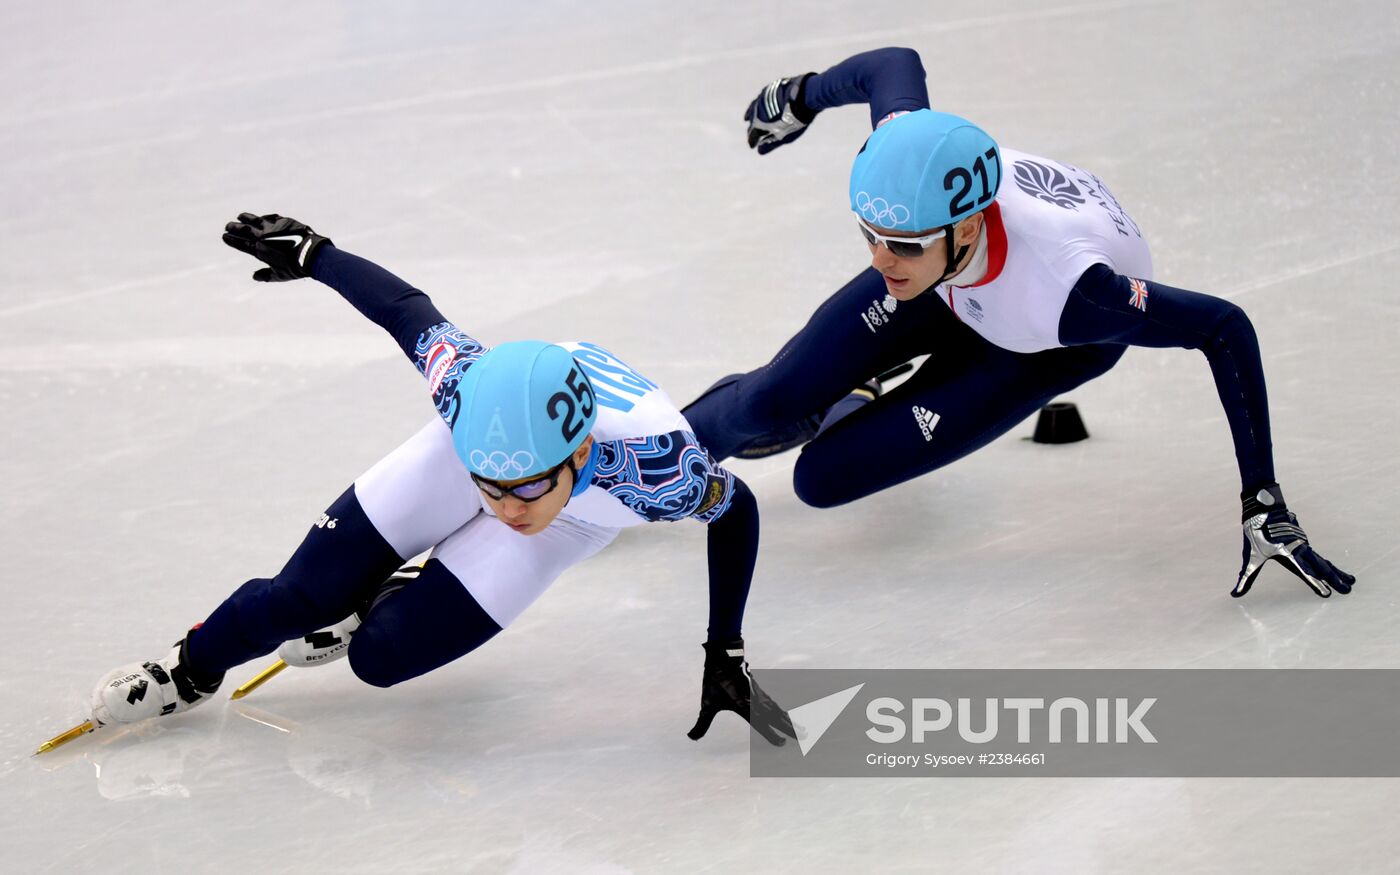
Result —
M 350 487 L 277 577 L 248 581 L 214 609 L 189 638 L 190 664 L 204 675 L 221 673 L 337 623 L 402 561 Z

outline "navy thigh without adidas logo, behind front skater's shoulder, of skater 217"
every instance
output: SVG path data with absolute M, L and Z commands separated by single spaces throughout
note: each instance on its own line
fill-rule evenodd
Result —
M 773 361 L 711 388 L 683 410 L 700 444 L 725 459 L 755 438 L 819 414 L 878 372 L 928 351 L 930 295 L 889 308 L 875 270 L 826 300 Z

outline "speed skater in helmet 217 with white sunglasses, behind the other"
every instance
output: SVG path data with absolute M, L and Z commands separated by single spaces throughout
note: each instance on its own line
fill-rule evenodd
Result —
M 1154 281 L 1141 230 L 1093 174 L 1001 148 L 976 125 L 934 112 L 910 49 L 769 84 L 745 113 L 749 146 L 767 154 L 846 104 L 867 104 L 874 129 L 850 179 L 871 267 L 769 364 L 685 407 L 715 459 L 806 442 L 794 489 L 806 504 L 834 507 L 987 445 L 1128 346 L 1201 350 L 1239 462 L 1245 550 L 1232 595 L 1268 560 L 1320 596 L 1351 591 L 1355 578 L 1309 545 L 1278 487 L 1245 311 Z M 931 358 L 890 392 L 851 392 L 921 354 Z

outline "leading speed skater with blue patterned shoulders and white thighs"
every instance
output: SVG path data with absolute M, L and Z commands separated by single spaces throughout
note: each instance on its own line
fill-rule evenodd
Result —
M 438 416 L 332 501 L 276 577 L 245 582 L 169 654 L 104 678 L 94 724 L 188 711 L 279 647 L 295 665 L 347 657 L 365 683 L 402 683 L 491 640 L 622 528 L 690 518 L 708 525 L 710 574 L 690 738 L 724 710 L 773 743 L 792 735 L 743 658 L 753 494 L 655 382 L 591 343 L 487 349 L 424 293 L 291 218 L 244 213 L 224 242 L 266 265 L 255 280 L 314 277 L 388 330 Z M 430 549 L 421 570 L 395 573 Z

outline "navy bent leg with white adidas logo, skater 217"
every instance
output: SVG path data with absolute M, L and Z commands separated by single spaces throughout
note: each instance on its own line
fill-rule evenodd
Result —
M 1044 403 L 1112 368 L 1126 347 L 1081 346 L 931 358 L 914 377 L 822 431 L 792 486 L 812 507 L 864 498 L 990 444 Z

